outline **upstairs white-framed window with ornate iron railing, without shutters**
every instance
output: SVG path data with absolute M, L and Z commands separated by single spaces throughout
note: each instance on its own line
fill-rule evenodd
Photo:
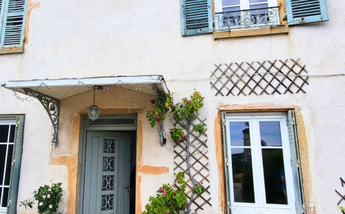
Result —
M 216 0 L 217 30 L 262 28 L 279 24 L 277 0 Z

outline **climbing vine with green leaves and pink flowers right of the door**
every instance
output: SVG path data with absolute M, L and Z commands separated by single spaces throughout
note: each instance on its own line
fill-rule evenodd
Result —
M 181 186 L 171 186 L 170 184 L 163 184 L 162 188 L 157 191 L 157 197 L 150 197 L 150 204 L 146 205 L 146 211 L 143 214 L 157 213 L 157 214 L 169 214 L 178 213 L 179 211 L 184 211 L 184 213 L 190 213 L 190 206 L 193 204 L 195 194 L 201 195 L 204 193 L 205 188 L 202 186 L 202 182 L 199 183 L 193 177 L 190 172 L 190 132 L 195 131 L 201 134 L 204 131 L 203 124 L 196 124 L 192 127 L 193 121 L 196 119 L 196 115 L 200 108 L 204 106 L 204 97 L 200 95 L 199 92 L 195 91 L 190 99 L 185 97 L 180 102 L 176 104 L 172 101 L 171 95 L 166 95 L 165 97 L 158 97 L 151 101 L 155 105 L 155 110 L 149 110 L 146 114 L 146 118 L 150 121 L 151 127 L 155 127 L 156 124 L 160 124 L 166 118 L 166 113 L 170 113 L 177 121 L 180 121 L 181 126 L 170 129 L 170 139 L 176 144 L 185 142 L 186 153 L 187 153 L 187 170 L 186 173 L 190 177 L 190 181 L 193 185 L 192 195 L 190 196 L 190 201 L 187 202 L 186 194 L 186 182 L 184 182 L 184 173 L 178 173 L 175 175 L 177 177 L 177 183 Z M 170 112 L 169 112 L 170 110 Z M 184 121 L 187 121 L 186 123 Z M 184 130 L 187 130 L 184 133 Z M 176 189 L 175 189 L 176 188 Z M 173 193 L 173 194 L 172 194 Z M 181 194 L 183 193 L 183 197 Z M 186 202 L 185 202 L 186 200 Z

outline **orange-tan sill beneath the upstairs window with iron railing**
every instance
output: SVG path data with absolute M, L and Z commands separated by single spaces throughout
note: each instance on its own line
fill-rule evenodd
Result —
M 255 37 L 261 35 L 276 35 L 288 33 L 288 25 L 270 28 L 257 28 L 248 30 L 228 30 L 213 32 L 214 39 L 236 38 L 236 37 Z

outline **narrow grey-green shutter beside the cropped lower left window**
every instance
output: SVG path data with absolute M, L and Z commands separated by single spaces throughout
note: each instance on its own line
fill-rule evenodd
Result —
M 12 156 L 12 168 L 10 177 L 10 191 L 8 193 L 7 214 L 17 213 L 17 197 L 19 187 L 19 177 L 21 171 L 21 154 L 23 153 L 25 116 L 17 116 L 17 127 L 14 132 L 14 147 Z

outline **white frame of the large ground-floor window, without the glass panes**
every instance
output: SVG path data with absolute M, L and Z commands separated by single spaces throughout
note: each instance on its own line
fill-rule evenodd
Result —
M 250 146 L 253 164 L 253 182 L 255 193 L 255 204 L 240 203 L 234 201 L 233 169 L 231 163 L 231 148 L 244 148 L 244 146 L 231 146 L 229 123 L 235 121 L 248 121 L 250 132 Z M 282 146 L 263 146 L 264 148 L 282 148 L 284 155 L 284 171 L 286 177 L 286 191 L 288 205 L 266 204 L 264 185 L 264 166 L 262 164 L 262 146 L 259 133 L 259 121 L 279 121 L 282 135 Z M 296 213 L 295 189 L 293 184 L 293 169 L 291 167 L 290 145 L 288 139 L 288 126 L 286 124 L 286 113 L 228 113 L 226 115 L 226 140 L 228 145 L 228 177 L 230 183 L 230 204 L 233 213 Z

